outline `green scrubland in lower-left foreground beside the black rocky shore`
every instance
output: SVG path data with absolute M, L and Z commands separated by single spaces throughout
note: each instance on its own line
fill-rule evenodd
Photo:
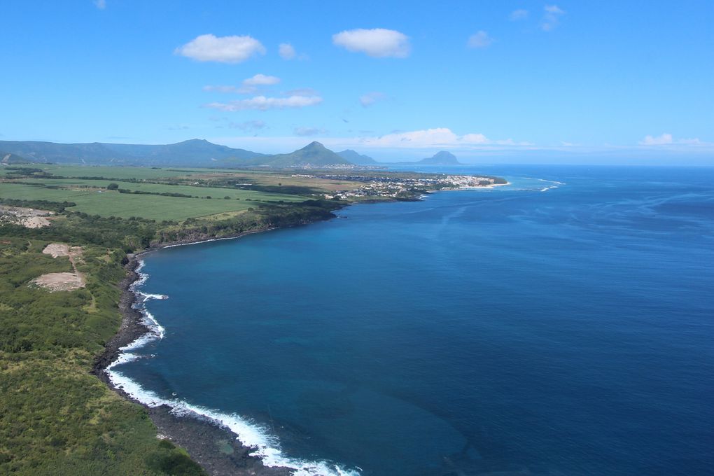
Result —
M 29 282 L 71 270 L 69 260 L 41 253 L 46 240 L 3 234 L 0 473 L 203 475 L 183 450 L 156 439 L 143 407 L 89 374 L 119 327 L 124 252 L 82 243 L 86 288 L 49 293 Z

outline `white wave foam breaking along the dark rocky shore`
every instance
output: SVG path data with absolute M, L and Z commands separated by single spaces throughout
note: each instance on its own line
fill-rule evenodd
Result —
M 261 458 L 263 465 L 268 467 L 288 467 L 293 470 L 291 473 L 293 476 L 361 475 L 361 472 L 358 470 L 351 470 L 328 461 L 310 461 L 286 457 L 280 449 L 278 437 L 271 435 L 266 426 L 246 420 L 246 418 L 243 418 L 235 413 L 221 413 L 218 410 L 211 410 L 199 405 L 191 405 L 183 400 L 168 400 L 159 397 L 159 395 L 153 391 L 141 387 L 139 383 L 136 383 L 134 380 L 131 380 L 131 378 L 126 377 L 126 375 L 119 372 L 119 370 L 116 370 L 118 365 L 143 358 L 143 356 L 131 353 L 131 350 L 144 347 L 144 345 L 153 340 L 161 340 L 164 338 L 164 328 L 161 327 L 156 318 L 154 318 L 154 315 L 146 310 L 143 304 L 146 300 L 165 299 L 167 296 L 141 293 L 141 291 L 136 289 L 146 283 L 146 280 L 149 278 L 149 275 L 146 273 L 141 273 L 142 268 L 144 268 L 144 261 L 139 261 L 139 266 L 136 267 L 136 273 L 139 274 L 139 280 L 136 280 L 136 282 L 134 282 L 129 289 L 134 292 L 137 297 L 143 297 L 141 305 L 135 305 L 135 308 L 141 312 L 141 315 L 143 316 L 142 322 L 149 329 L 149 332 L 134 340 L 134 342 L 129 345 L 125 345 L 120 348 L 119 350 L 121 350 L 121 353 L 119 354 L 119 357 L 107 366 L 105 371 L 114 387 L 121 388 L 121 390 L 124 390 L 124 392 L 131 398 L 143 403 L 147 407 L 167 405 L 171 407 L 171 413 L 178 417 L 195 417 L 198 419 L 209 420 L 216 425 L 227 428 L 234 435 L 236 435 L 236 438 L 242 445 L 254 448 L 250 455 Z M 163 297 L 156 298 L 154 296 Z

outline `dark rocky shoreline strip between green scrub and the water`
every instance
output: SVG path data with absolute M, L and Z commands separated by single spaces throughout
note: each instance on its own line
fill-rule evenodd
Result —
M 121 313 L 121 325 L 119 331 L 114 335 L 104 348 L 104 353 L 99 355 L 92 367 L 91 373 L 105 383 L 111 390 L 134 403 L 138 403 L 151 421 L 156 425 L 157 437 L 166 438 L 183 447 L 188 455 L 203 467 L 203 470 L 212 476 L 229 476 L 236 474 L 248 474 L 255 476 L 288 476 L 293 469 L 288 467 L 267 467 L 258 456 L 250 453 L 254 447 L 242 445 L 236 434 L 228 427 L 219 422 L 211 420 L 202 415 L 176 415 L 169 405 L 151 407 L 136 400 L 123 389 L 114 385 L 109 378 L 107 370 L 112 363 L 123 353 L 122 348 L 136 342 L 147 334 L 152 333 L 152 329 L 144 323 L 144 315 L 134 308 L 138 303 L 137 295 L 133 285 L 141 280 L 139 266 L 141 257 L 147 253 L 161 248 L 169 248 L 181 245 L 193 245 L 206 243 L 214 240 L 230 240 L 241 238 L 253 233 L 273 230 L 275 228 L 263 228 L 236 236 L 225 238 L 210 238 L 205 240 L 182 240 L 177 243 L 167 243 L 166 245 L 152 246 L 140 253 L 128 255 L 129 261 L 124 265 L 126 277 L 119 284 L 121 298 L 119 300 L 119 312 Z

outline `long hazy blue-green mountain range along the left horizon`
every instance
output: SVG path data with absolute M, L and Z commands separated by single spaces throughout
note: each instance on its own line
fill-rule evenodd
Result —
M 33 162 L 91 165 L 216 166 L 226 158 L 248 160 L 264 154 L 218 146 L 201 139 L 167 145 L 0 141 L 0 151 Z

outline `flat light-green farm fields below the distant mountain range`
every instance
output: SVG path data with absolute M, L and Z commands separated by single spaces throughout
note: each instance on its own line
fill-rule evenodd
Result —
M 0 199 L 67 201 L 76 203 L 70 211 L 156 221 L 180 222 L 188 218 L 225 216 L 226 213 L 234 216 L 268 203 L 298 203 L 315 198 L 323 191 L 356 186 L 351 182 L 321 181 L 271 171 L 46 164 L 24 167 L 28 172 L 23 172 L 22 168 L 0 167 Z M 41 169 L 44 175 L 29 172 L 31 168 Z M 46 173 L 64 178 L 45 178 Z M 141 194 L 108 190 L 112 183 L 124 191 Z M 249 188 L 246 189 L 246 185 Z M 291 193 L 295 191 L 301 195 Z

